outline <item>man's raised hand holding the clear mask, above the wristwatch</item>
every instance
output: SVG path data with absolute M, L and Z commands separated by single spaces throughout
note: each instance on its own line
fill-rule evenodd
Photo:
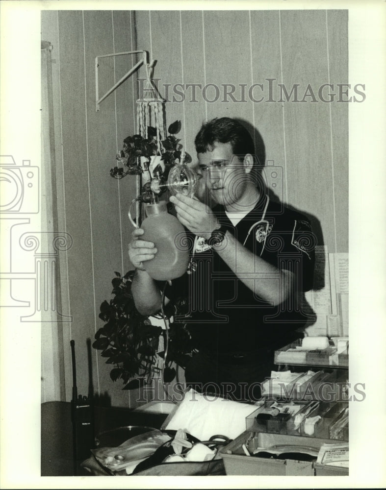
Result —
M 208 240 L 212 231 L 220 228 L 220 223 L 209 206 L 196 198 L 177 194 L 170 197 L 170 202 L 176 207 L 179 221 L 198 237 Z

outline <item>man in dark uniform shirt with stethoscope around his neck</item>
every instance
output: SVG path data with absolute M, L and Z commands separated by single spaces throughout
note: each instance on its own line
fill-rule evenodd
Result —
M 243 125 L 214 119 L 203 125 L 195 145 L 215 205 L 170 198 L 192 250 L 188 273 L 165 292 L 174 301 L 189 298 L 183 321 L 198 352 L 185 379 L 200 392 L 257 399 L 260 382 L 274 368 L 274 350 L 298 338 L 307 321 L 301 298 L 312 287 L 315 243 L 309 221 L 265 193 Z M 142 262 L 154 248 L 140 235 L 135 230 L 129 245 L 136 266 L 132 292 L 139 311 L 151 314 L 159 310 L 159 285 Z

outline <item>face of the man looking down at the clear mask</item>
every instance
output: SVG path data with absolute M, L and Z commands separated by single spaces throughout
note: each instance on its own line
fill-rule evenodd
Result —
M 247 175 L 231 143 L 214 143 L 213 151 L 199 153 L 198 160 L 211 199 L 224 206 L 237 204 L 244 195 Z

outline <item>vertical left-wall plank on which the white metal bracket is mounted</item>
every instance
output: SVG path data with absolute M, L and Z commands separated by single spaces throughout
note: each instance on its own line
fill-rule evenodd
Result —
M 103 25 L 103 29 L 96 29 Z M 90 219 L 92 220 L 94 291 L 95 291 L 95 330 L 103 326 L 98 318 L 100 305 L 111 297 L 111 279 L 115 270 L 122 268 L 122 245 L 120 202 L 116 179 L 109 175 L 113 166 L 117 144 L 116 100 L 109 95 L 97 113 L 94 103 L 94 59 L 100 54 L 114 52 L 113 18 L 111 11 L 84 12 L 85 64 L 87 87 L 87 147 L 90 183 Z M 114 62 L 116 59 L 100 60 L 99 79 L 101 95 L 114 85 Z M 126 87 L 128 89 L 128 87 Z M 91 323 L 91 319 L 90 319 Z M 93 337 L 92 337 L 93 339 Z M 94 387 L 108 386 L 111 366 L 106 365 L 100 351 L 93 349 Z M 98 369 L 98 371 L 97 371 Z M 98 376 L 97 376 L 98 374 Z M 97 383 L 97 384 L 96 384 Z M 103 391 L 103 388 L 101 389 Z M 125 395 L 120 387 L 111 383 L 109 395 L 117 403 L 117 396 Z

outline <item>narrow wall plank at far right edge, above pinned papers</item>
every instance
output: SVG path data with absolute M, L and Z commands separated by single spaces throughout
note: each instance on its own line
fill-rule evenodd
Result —
M 334 83 L 335 94 L 339 94 L 338 83 L 348 80 L 348 46 L 342 39 L 348 38 L 348 11 L 327 10 L 328 53 L 330 83 Z M 351 86 L 350 93 L 353 93 Z M 331 110 L 331 135 L 335 191 L 335 232 L 334 252 L 348 252 L 348 111 L 350 103 L 335 101 L 326 105 Z M 361 97 L 358 96 L 361 100 Z M 355 103 L 355 102 L 352 102 Z

